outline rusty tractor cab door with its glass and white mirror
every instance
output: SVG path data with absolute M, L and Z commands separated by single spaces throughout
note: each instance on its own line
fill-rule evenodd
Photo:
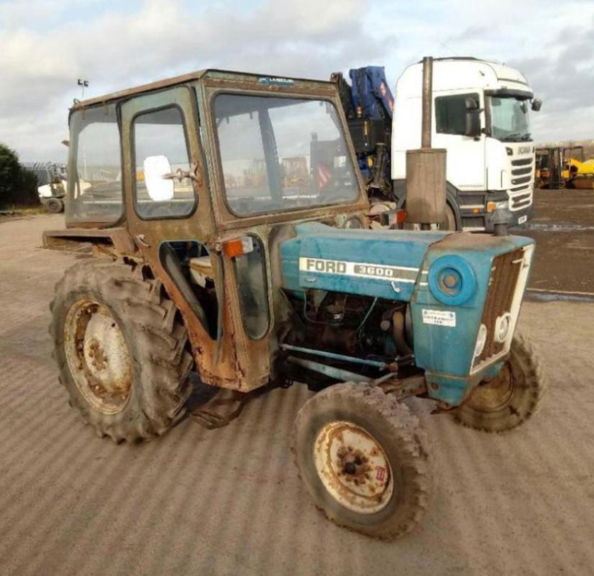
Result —
M 128 229 L 184 317 L 202 380 L 246 389 L 241 339 L 229 337 L 241 319 L 232 314 L 230 262 L 217 248 L 194 88 L 132 97 L 119 115 Z

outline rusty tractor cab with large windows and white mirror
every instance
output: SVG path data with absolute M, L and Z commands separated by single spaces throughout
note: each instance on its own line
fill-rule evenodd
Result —
M 201 350 L 203 381 L 266 383 L 272 238 L 305 221 L 366 226 L 334 85 L 197 72 L 77 104 L 69 123 L 67 230 L 46 243 L 92 230 L 96 246 L 143 259 Z

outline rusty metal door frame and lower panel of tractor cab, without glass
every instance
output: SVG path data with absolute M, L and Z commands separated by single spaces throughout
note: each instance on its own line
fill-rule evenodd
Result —
M 154 94 L 146 94 L 122 104 L 124 158 L 122 171 L 128 228 L 132 236 L 141 238 L 140 252 L 143 259 L 150 265 L 154 275 L 163 282 L 163 286 L 184 319 L 194 351 L 196 368 L 201 379 L 214 386 L 247 392 L 268 381 L 270 371 L 268 340 L 264 338 L 258 342 L 252 342 L 245 336 L 241 317 L 239 317 L 239 301 L 233 281 L 232 262 L 216 256 L 221 238 L 213 219 L 208 178 L 202 177 L 192 182 L 198 196 L 198 205 L 194 214 L 188 218 L 143 220 L 134 209 L 135 169 L 132 156 L 132 118 L 137 113 L 172 103 L 184 111 L 187 122 L 189 161 L 198 167 L 198 173 L 203 176 L 206 174 L 198 129 L 197 103 L 194 90 L 191 87 L 176 87 Z M 218 304 L 223 311 L 223 337 L 220 343 L 211 338 L 182 291 L 162 265 L 159 247 L 162 241 L 167 240 L 196 240 L 204 244 L 210 252 L 213 273 L 215 278 L 219 279 Z

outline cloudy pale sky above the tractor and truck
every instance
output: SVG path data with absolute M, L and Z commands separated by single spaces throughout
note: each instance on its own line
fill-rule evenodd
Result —
M 519 68 L 544 100 L 538 141 L 594 138 L 594 0 L 0 0 L 0 142 L 65 160 L 86 96 L 217 67 L 327 79 L 425 55 Z

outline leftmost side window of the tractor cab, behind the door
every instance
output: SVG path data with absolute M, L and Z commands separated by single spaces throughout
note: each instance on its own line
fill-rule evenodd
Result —
M 122 170 L 115 104 L 70 118 L 69 221 L 115 222 L 122 215 Z

